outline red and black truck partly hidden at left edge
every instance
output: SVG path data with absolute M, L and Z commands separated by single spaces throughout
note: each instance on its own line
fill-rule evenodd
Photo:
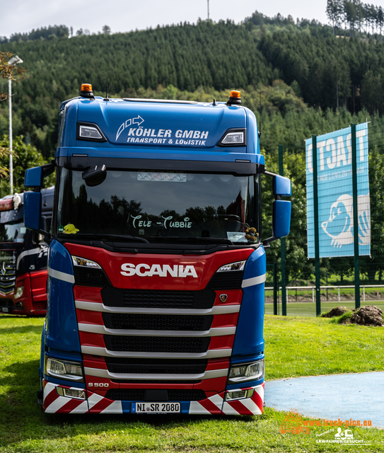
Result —
M 53 188 L 42 190 L 40 227 L 49 229 Z M 0 200 L 0 312 L 42 316 L 47 311 L 48 247 L 24 225 L 24 194 Z

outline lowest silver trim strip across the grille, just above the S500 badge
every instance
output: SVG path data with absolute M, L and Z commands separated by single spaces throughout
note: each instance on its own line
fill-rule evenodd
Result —
M 105 379 L 146 379 L 148 381 L 197 381 L 201 379 L 215 379 L 227 377 L 228 368 L 209 369 L 199 374 L 149 374 L 149 373 L 111 373 L 107 369 L 84 367 L 86 376 L 103 377 Z

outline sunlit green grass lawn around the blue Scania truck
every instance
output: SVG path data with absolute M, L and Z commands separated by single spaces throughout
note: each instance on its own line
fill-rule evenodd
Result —
M 354 428 L 355 437 L 371 445 L 318 444 L 321 426 L 281 434 L 289 414 L 270 408 L 242 418 L 45 415 L 36 403 L 42 323 L 0 316 L 1 453 L 384 452 L 384 431 L 375 428 Z M 266 316 L 264 338 L 267 380 L 384 369 L 383 328 Z

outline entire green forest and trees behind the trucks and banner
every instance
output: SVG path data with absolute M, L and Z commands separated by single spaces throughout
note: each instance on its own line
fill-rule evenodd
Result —
M 341 3 L 329 0 L 328 4 L 336 8 Z M 112 35 L 105 26 L 103 34 L 74 35 L 71 31 L 71 38 L 68 28 L 60 25 L 13 35 L 0 42 L 0 51 L 19 55 L 26 69 L 25 78 L 12 85 L 13 137 L 23 135 L 24 145 L 35 145 L 45 159 L 53 156 L 59 105 L 78 96 L 82 83 L 91 83 L 98 96 L 105 96 L 108 85 L 112 97 L 204 102 L 214 98 L 226 101 L 230 89 L 240 89 L 243 104 L 255 112 L 262 130 L 260 144 L 269 171 L 278 172 L 277 147 L 284 145 L 284 174 L 291 177 L 293 188 L 286 269 L 291 279 L 308 279 L 313 260 L 306 258 L 303 140 L 367 118 L 376 125 L 382 123 L 384 45 L 380 23 L 378 29 L 364 29 L 363 16 L 356 23 L 352 15 L 343 25 L 337 18 L 345 15 L 337 14 L 332 27 L 316 21 L 295 23 L 291 17 L 267 18 L 256 12 L 240 25 L 199 21 Z M 0 93 L 7 88 L 7 81 L 0 80 Z M 8 105 L 3 102 L 0 139 L 7 134 Z M 18 147 L 19 153 L 24 152 L 20 140 Z M 378 197 L 384 193 L 380 173 L 383 147 L 383 143 L 376 144 L 376 154 L 370 158 L 375 182 L 371 194 Z M 28 153 L 27 149 L 25 156 Z M 16 175 L 16 184 L 22 183 L 22 171 Z M 264 187 L 263 193 L 272 197 L 270 188 Z M 373 202 L 377 247 L 373 244 L 372 257 L 361 264 L 361 272 L 371 280 L 376 270 L 380 276 L 384 272 L 384 209 L 380 200 Z M 271 218 L 268 206 L 267 202 L 264 224 Z M 272 231 L 272 226 L 267 229 Z M 269 259 L 278 261 L 278 241 L 273 243 Z M 322 275 L 334 272 L 342 277 L 352 269 L 349 259 L 322 259 Z

